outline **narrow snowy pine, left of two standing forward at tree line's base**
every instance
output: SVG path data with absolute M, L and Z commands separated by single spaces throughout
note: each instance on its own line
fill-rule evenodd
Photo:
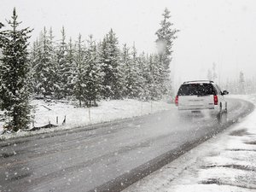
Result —
M 84 76 L 84 65 L 85 65 L 85 49 L 82 42 L 82 37 L 79 34 L 78 41 L 75 44 L 75 52 L 73 56 L 75 67 L 73 70 L 73 76 L 71 83 L 73 84 L 73 96 L 79 100 L 79 107 L 82 107 L 82 102 L 86 102 L 85 95 L 85 76 Z

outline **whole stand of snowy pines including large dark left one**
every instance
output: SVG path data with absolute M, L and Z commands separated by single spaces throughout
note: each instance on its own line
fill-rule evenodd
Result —
M 29 28 L 19 29 L 14 9 L 9 29 L 0 22 L 0 108 L 5 128 L 18 131 L 30 122 L 32 96 L 74 98 L 79 106 L 96 106 L 100 99 L 159 100 L 172 93 L 170 62 L 176 29 L 165 9 L 155 33 L 158 53 L 138 53 L 136 46 L 119 45 L 111 29 L 100 41 L 90 35 L 61 39 L 52 29 L 40 33 L 28 49 Z

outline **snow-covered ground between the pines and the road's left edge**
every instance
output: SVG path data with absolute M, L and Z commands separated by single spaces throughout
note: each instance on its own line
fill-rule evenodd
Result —
M 34 100 L 32 101 L 35 115 L 34 126 L 38 127 L 49 123 L 60 126 L 40 131 L 20 131 L 16 134 L 2 135 L 0 136 L 0 139 L 72 129 L 83 125 L 108 122 L 114 119 L 137 117 L 174 108 L 173 104 L 167 102 L 139 102 L 131 99 L 102 101 L 98 104 L 98 107 L 90 108 L 89 116 L 89 108 L 77 108 L 74 105 L 61 101 L 44 102 L 44 100 Z M 66 125 L 62 125 L 65 116 Z M 56 119 L 58 119 L 58 123 L 56 122 Z M 1 131 L 3 131 L 3 122 L 0 122 L 0 133 Z

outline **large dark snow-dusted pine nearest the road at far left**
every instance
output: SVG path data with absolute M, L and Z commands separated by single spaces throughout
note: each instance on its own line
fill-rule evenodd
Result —
M 14 9 L 11 20 L 8 21 L 10 29 L 0 32 L 5 38 L 0 65 L 0 96 L 3 100 L 1 108 L 6 115 L 4 127 L 13 131 L 28 127 L 31 110 L 27 82 L 30 70 L 27 40 L 32 30 L 28 27 L 18 29 L 20 22 L 17 17 Z

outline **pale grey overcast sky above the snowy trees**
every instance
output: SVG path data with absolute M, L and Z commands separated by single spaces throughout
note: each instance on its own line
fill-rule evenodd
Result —
M 139 51 L 155 52 L 155 32 L 165 8 L 180 30 L 173 47 L 172 75 L 176 84 L 206 79 L 215 62 L 218 80 L 234 79 L 240 71 L 256 75 L 256 1 L 254 0 L 0 0 L 0 21 L 14 7 L 32 39 L 46 26 L 60 37 L 101 39 L 113 28 L 120 44 L 135 42 Z

